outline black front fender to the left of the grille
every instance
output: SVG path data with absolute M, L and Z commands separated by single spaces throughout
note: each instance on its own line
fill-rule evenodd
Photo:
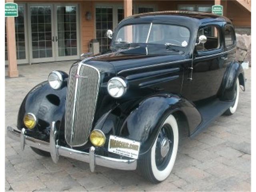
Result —
M 38 135 L 38 139 L 46 140 L 46 131 L 50 129 L 52 121 L 61 121 L 65 112 L 66 104 L 66 86 L 60 90 L 54 90 L 50 87 L 47 81 L 42 82 L 32 88 L 26 95 L 20 110 L 18 112 L 17 127 L 18 129 L 24 128 L 23 118 L 28 112 L 33 113 L 38 118 L 38 124 L 35 131 L 45 133 Z M 37 132 L 38 134 L 38 132 Z M 36 135 L 34 135 L 36 137 Z M 43 137 L 43 138 L 42 138 Z

